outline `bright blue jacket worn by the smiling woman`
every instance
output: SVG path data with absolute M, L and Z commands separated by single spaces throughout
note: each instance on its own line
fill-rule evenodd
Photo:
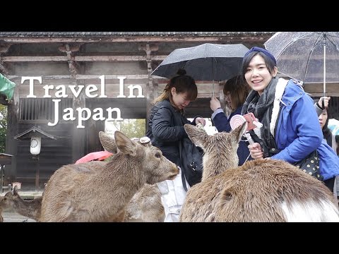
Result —
M 283 159 L 293 164 L 316 149 L 323 180 L 339 175 L 338 156 L 323 140 L 313 99 L 290 80 L 281 101 L 283 103 L 280 102 L 280 115 L 275 131 L 275 143 L 281 151 L 271 158 Z

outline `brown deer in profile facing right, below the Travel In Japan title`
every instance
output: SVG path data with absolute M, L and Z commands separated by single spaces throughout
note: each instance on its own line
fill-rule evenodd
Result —
M 177 165 L 149 142 L 100 131 L 114 153 L 111 162 L 69 164 L 57 169 L 42 195 L 40 222 L 123 222 L 126 205 L 145 183 L 174 179 Z

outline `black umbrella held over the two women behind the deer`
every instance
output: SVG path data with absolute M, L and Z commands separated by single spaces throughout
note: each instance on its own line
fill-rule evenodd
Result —
M 214 86 L 214 80 L 228 80 L 240 74 L 242 58 L 248 50 L 243 44 L 212 43 L 175 49 L 150 75 L 172 78 L 183 68 L 195 80 L 213 80 Z

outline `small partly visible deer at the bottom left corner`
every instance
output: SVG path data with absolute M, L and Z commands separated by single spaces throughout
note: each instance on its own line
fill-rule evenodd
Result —
M 18 212 L 18 214 L 38 221 L 40 218 L 41 201 L 41 196 L 33 200 L 23 200 L 18 193 L 18 188 L 15 186 L 13 193 L 12 191 L 8 191 L 8 193 L 4 195 L 1 203 L 4 208 L 11 207 L 15 212 Z

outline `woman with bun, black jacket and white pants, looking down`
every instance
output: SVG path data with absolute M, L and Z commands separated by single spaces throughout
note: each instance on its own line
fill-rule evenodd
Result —
M 197 125 L 201 123 L 205 126 L 206 121 L 200 116 L 196 116 L 191 122 L 184 116 L 184 109 L 190 102 L 198 96 L 198 88 L 194 78 L 186 75 L 186 71 L 179 69 L 176 76 L 169 80 L 165 90 L 154 101 L 154 106 L 150 109 L 146 135 L 150 138 L 152 145 L 162 151 L 162 155 L 167 157 L 181 167 L 179 154 L 179 140 L 188 135 L 184 129 L 185 123 Z M 179 126 L 175 123 L 176 116 L 182 119 Z M 165 208 L 165 222 L 179 222 L 181 207 L 186 198 L 182 180 L 182 170 L 174 180 L 166 180 L 157 183 L 162 194 L 162 205 Z M 185 180 L 186 181 L 186 180 Z M 186 186 L 189 183 L 186 181 Z

